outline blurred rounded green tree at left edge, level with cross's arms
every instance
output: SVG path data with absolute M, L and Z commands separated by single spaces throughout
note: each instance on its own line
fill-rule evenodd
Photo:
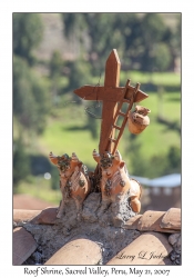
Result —
M 25 60 L 13 57 L 13 113 L 23 128 L 42 132 L 49 111 L 47 87 Z

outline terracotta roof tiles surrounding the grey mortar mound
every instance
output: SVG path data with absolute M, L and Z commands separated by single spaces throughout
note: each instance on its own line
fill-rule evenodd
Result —
M 57 208 L 47 208 L 42 211 L 13 210 L 13 221 L 17 225 L 25 221 L 32 225 L 54 225 L 55 216 Z M 175 249 L 177 250 L 176 241 L 181 240 L 181 209 L 171 208 L 167 211 L 147 210 L 143 215 L 130 218 L 123 228 L 139 230 L 141 234 L 125 248 L 122 248 L 106 265 L 172 265 L 167 255 Z M 22 240 L 23 236 L 25 240 Z M 35 248 L 37 242 L 30 232 L 21 227 L 13 229 L 13 265 L 23 264 L 34 252 Z M 180 254 L 180 246 L 177 252 Z M 60 248 L 44 264 L 100 265 L 100 254 L 101 247 L 96 242 L 84 238 L 75 238 Z M 142 256 L 144 258 L 141 258 Z

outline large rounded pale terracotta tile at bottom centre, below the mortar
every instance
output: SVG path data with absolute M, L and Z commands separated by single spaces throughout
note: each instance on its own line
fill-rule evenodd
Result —
M 44 265 L 98 265 L 101 247 L 89 239 L 75 239 L 64 245 Z

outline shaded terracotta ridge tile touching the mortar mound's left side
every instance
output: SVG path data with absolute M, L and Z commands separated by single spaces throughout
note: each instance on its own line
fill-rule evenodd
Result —
M 40 211 L 33 219 L 31 224 L 50 224 L 53 225 L 57 220 L 57 209 L 58 208 L 47 208 Z

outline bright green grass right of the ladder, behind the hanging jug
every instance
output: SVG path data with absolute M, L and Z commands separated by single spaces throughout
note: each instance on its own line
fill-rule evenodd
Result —
M 178 92 L 166 93 L 170 96 L 180 97 Z M 149 98 L 141 102 L 142 106 L 151 109 L 150 126 L 140 135 L 136 136 L 136 141 L 140 142 L 142 156 L 150 158 L 155 153 L 166 153 L 171 145 L 180 147 L 180 135 L 174 130 L 169 130 L 164 125 L 157 122 L 159 99 L 156 93 L 150 95 Z M 180 101 L 171 101 L 171 98 L 165 98 L 163 103 L 163 115 L 169 120 L 177 120 L 180 126 L 181 107 Z M 159 148 L 160 146 L 160 148 Z

